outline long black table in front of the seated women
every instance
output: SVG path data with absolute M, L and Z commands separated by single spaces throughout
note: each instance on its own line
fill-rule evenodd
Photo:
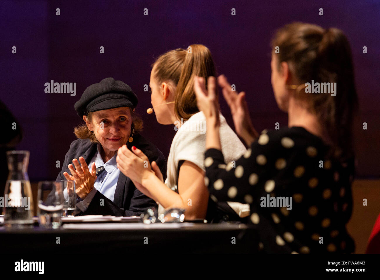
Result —
M 92 226 L 91 226 L 92 225 Z M 84 229 L 78 229 L 82 227 Z M 59 240 L 59 243 L 57 243 Z M 0 227 L 3 252 L 255 253 L 255 229 L 244 224 L 76 223 L 62 228 Z

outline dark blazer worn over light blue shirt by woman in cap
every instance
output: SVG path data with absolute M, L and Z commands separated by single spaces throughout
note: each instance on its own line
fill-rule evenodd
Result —
M 132 146 L 136 146 L 142 150 L 149 158 L 149 162 L 155 161 L 157 163 L 165 180 L 166 160 L 161 151 L 150 141 L 136 133 L 133 135 L 133 142 L 127 142 L 128 149 L 131 149 Z M 65 162 L 63 163 L 62 171 L 58 174 L 57 180 L 65 180 L 65 176 L 63 176 L 63 172 L 65 171 L 71 174 L 68 165 L 72 164 L 74 158 L 78 159 L 82 156 L 86 160 L 86 163 L 89 164 L 96 152 L 97 144 L 90 142 L 90 139 L 77 139 L 73 141 L 65 156 Z M 104 205 L 100 205 L 101 198 L 104 199 Z M 157 203 L 136 189 L 131 179 L 120 172 L 114 201 L 112 202 L 97 191 L 87 210 L 85 212 L 81 211 L 79 215 L 139 216 L 152 207 L 158 209 Z

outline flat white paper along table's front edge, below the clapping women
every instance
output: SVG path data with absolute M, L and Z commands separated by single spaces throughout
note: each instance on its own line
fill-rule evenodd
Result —
M 63 224 L 64 229 L 178 229 L 181 227 L 193 227 L 192 222 L 182 223 L 102 223 L 102 224 Z

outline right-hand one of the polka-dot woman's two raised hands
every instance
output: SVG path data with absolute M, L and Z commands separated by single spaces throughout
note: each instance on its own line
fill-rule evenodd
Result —
M 224 99 L 226 99 L 228 106 L 230 106 L 237 135 L 243 138 L 247 146 L 250 146 L 258 136 L 258 133 L 253 128 L 249 116 L 245 92 L 242 91 L 237 94 L 236 91 L 233 91 L 224 75 L 218 77 L 218 84 L 222 88 Z

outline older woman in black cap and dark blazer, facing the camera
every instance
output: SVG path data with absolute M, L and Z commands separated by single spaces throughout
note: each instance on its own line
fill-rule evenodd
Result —
M 86 124 L 74 129 L 78 139 L 71 143 L 57 180 L 75 181 L 80 215 L 135 216 L 157 208 L 156 202 L 136 189 L 116 165 L 119 147 L 139 146 L 166 174 L 161 151 L 138 133 L 142 120 L 134 114 L 137 102 L 128 85 L 105 78 L 87 87 L 75 103 Z

